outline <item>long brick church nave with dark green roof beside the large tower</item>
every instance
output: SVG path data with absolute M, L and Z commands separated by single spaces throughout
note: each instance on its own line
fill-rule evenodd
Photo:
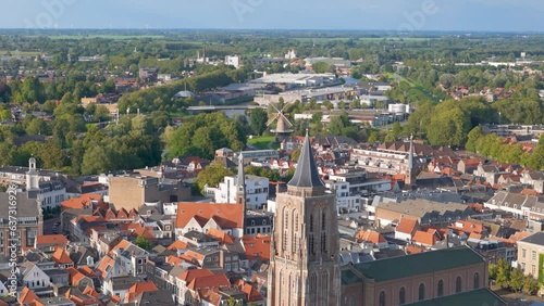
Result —
M 487 305 L 506 305 L 485 288 L 486 282 L 487 265 L 478 253 L 466 246 L 446 248 L 344 267 L 341 305 L 412 305 L 425 301 L 424 305 L 460 305 L 441 301 L 455 296 L 462 301 L 465 295 Z

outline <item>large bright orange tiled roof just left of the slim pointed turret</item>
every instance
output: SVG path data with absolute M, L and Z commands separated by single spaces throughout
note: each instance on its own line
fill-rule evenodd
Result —
M 178 203 L 176 227 L 184 228 L 193 217 L 209 220 L 213 218 L 221 228 L 242 228 L 244 219 L 243 204 L 202 204 Z

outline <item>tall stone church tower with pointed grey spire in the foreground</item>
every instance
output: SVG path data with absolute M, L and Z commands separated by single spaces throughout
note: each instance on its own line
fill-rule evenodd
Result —
M 325 193 L 306 132 L 287 192 L 276 196 L 268 305 L 339 305 L 335 195 Z

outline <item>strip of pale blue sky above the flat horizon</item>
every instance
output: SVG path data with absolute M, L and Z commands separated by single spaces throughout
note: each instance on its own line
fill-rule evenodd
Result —
M 542 0 L 10 0 L 0 28 L 544 31 Z

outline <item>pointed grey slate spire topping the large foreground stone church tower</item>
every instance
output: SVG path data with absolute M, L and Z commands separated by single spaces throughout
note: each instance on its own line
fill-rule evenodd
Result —
M 295 175 L 287 186 L 301 188 L 324 188 L 324 183 L 321 180 L 318 167 L 316 166 L 316 160 L 313 158 L 308 132 L 306 132 L 305 142 L 302 149 L 300 150 L 300 157 L 298 158 Z

